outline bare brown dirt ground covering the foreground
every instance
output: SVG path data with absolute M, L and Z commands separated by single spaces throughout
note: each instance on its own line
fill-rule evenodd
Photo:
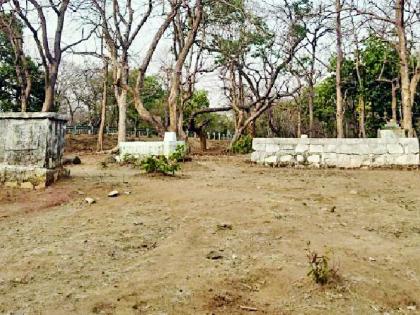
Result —
M 419 171 L 213 155 L 162 177 L 80 156 L 43 191 L 0 191 L 1 314 L 420 311 Z M 307 276 L 308 241 L 339 281 Z

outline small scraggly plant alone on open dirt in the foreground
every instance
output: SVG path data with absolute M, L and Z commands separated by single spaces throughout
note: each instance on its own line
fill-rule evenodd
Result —
M 308 258 L 309 263 L 309 272 L 307 276 L 311 277 L 315 283 L 320 285 L 325 285 L 332 280 L 338 279 L 338 270 L 337 268 L 330 268 L 330 258 L 328 255 L 319 255 L 317 252 L 311 250 L 309 247 L 310 242 L 308 242 L 307 245 L 306 257 Z

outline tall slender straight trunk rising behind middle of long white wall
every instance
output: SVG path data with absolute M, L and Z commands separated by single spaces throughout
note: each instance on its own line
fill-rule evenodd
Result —
M 336 66 L 336 121 L 337 121 L 337 138 L 344 138 L 344 103 L 341 82 L 341 67 L 343 64 L 343 48 L 341 33 L 341 0 L 336 0 L 336 36 L 337 36 L 337 66 Z

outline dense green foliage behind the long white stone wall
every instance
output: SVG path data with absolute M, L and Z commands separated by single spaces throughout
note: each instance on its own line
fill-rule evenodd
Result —
M 335 132 L 335 65 L 336 58 L 330 60 L 330 76 L 315 87 L 314 116 L 323 123 L 325 134 L 334 136 Z M 357 137 L 357 119 L 359 115 L 358 98 L 363 97 L 366 106 L 366 132 L 369 137 L 376 137 L 377 129 L 391 117 L 391 84 L 379 78 L 392 80 L 399 76 L 399 57 L 395 47 L 383 39 L 371 35 L 363 41 L 360 49 L 359 70 L 362 82 L 358 81 L 356 60 L 349 55 L 343 63 L 342 88 L 346 100 L 345 120 L 349 130 L 354 130 L 349 137 Z M 420 91 L 420 86 L 419 86 Z M 398 105 L 401 103 L 397 93 Z M 415 103 L 413 112 L 418 112 Z

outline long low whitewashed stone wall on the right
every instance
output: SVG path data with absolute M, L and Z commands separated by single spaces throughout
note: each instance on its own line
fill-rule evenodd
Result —
M 255 138 L 251 160 L 314 167 L 418 166 L 417 138 Z

